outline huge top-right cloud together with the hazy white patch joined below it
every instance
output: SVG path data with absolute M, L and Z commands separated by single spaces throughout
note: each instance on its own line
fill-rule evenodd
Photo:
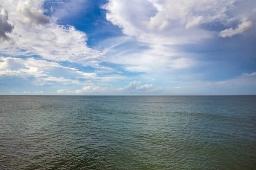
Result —
M 207 26 L 221 24 L 230 29 L 243 18 L 253 22 L 255 2 L 249 0 L 251 6 L 245 6 L 233 0 L 109 0 L 102 7 L 107 10 L 106 19 L 119 26 L 125 35 L 141 42 L 143 48 L 113 47 L 106 53 L 105 60 L 122 64 L 128 72 L 157 77 L 167 77 L 178 69 L 191 69 L 197 66 L 198 58 L 172 45 L 200 43 L 218 37 L 220 31 L 205 29 Z

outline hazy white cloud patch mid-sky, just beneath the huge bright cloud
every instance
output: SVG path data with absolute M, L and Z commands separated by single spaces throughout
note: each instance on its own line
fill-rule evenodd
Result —
M 122 64 L 129 72 L 145 72 L 157 74 L 171 72 L 175 69 L 187 69 L 195 65 L 196 61 L 186 56 L 177 57 L 171 47 L 151 45 L 149 49 L 141 51 L 120 50 L 108 55 L 106 60 L 110 63 Z

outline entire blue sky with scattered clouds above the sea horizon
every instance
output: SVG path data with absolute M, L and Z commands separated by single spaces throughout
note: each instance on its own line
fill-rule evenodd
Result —
M 0 0 L 0 95 L 256 95 L 256 0 Z

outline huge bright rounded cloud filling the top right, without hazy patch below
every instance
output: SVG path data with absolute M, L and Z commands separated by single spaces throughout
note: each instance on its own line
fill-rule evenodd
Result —
M 216 35 L 199 27 L 201 24 L 221 23 L 228 27 L 236 20 L 253 17 L 255 1 L 247 4 L 251 6 L 244 10 L 241 0 L 109 0 L 103 8 L 107 10 L 107 20 L 119 26 L 125 35 L 145 43 L 179 44 Z M 248 28 L 249 21 L 236 32 Z

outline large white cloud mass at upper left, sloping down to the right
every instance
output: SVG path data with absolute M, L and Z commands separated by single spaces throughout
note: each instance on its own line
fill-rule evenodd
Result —
M 99 51 L 87 47 L 87 35 L 84 32 L 74 26 L 57 24 L 55 17 L 46 17 L 44 2 L 45 0 L 0 0 L 1 6 L 9 12 L 9 23 L 15 26 L 12 32 L 8 29 L 8 36 L 15 44 L 1 46 L 2 54 L 39 55 L 51 61 L 81 64 L 101 56 Z M 6 18 L 7 15 L 4 13 L 3 16 Z

